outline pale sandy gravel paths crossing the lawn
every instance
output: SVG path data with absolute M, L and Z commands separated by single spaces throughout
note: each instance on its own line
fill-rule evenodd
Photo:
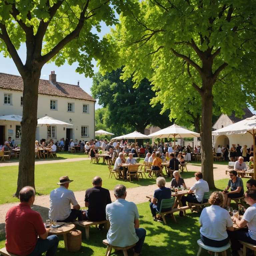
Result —
M 51 163 L 53 161 L 57 162 L 76 162 L 76 161 L 82 161 L 84 159 L 82 158 L 75 158 L 75 159 L 65 159 L 65 160 L 51 160 Z M 35 164 L 47 164 L 49 161 L 40 161 L 36 162 Z M 18 163 L 2 163 L 1 166 L 4 165 L 18 165 Z M 187 165 L 188 170 L 190 169 L 189 167 L 190 163 Z M 213 165 L 214 170 L 214 180 L 220 180 L 224 178 L 228 178 L 228 176 L 225 174 L 225 170 L 227 170 L 227 165 L 220 165 L 220 164 L 214 164 Z M 193 166 L 193 170 L 195 171 L 201 171 L 200 166 Z M 166 179 L 166 187 L 170 186 L 171 179 L 167 178 Z M 185 183 L 187 187 L 191 187 L 194 183 L 196 182 L 195 178 L 189 178 L 185 179 Z M 72 189 L 72 187 L 70 188 Z M 154 193 L 154 190 L 157 189 L 156 184 L 154 185 L 149 185 L 149 186 L 140 186 L 136 188 L 128 188 L 127 189 L 127 201 L 132 201 L 135 204 L 147 202 L 148 199 L 146 198 L 146 195 L 150 195 Z M 81 207 L 84 206 L 84 196 L 85 196 L 85 190 L 83 191 L 76 191 L 75 197 L 80 204 Z M 111 199 L 112 201 L 115 200 L 113 190 L 110 191 Z M 8 209 L 12 206 L 18 205 L 19 203 L 8 203 L 8 204 L 2 204 L 0 205 L 0 232 L 4 232 L 4 224 L 5 224 L 5 215 Z M 33 205 L 33 209 L 35 211 L 38 211 L 42 219 L 45 220 L 48 218 L 48 211 L 49 211 L 49 195 L 43 195 L 43 196 L 36 196 L 35 203 Z

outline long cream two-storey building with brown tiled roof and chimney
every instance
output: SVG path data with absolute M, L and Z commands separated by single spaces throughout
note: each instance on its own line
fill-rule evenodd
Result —
M 54 71 L 49 80 L 40 79 L 38 89 L 37 118 L 46 115 L 72 125 L 38 125 L 37 140 L 60 138 L 90 140 L 94 138 L 95 99 L 77 85 L 56 81 Z M 0 73 L 0 116 L 21 115 L 23 108 L 23 80 L 20 76 Z M 8 137 L 19 144 L 22 136 L 19 122 L 0 120 L 0 144 Z

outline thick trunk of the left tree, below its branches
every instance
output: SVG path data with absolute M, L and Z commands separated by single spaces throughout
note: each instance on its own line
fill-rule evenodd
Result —
M 28 71 L 23 78 L 23 112 L 21 121 L 21 145 L 19 173 L 15 196 L 19 196 L 21 188 L 35 188 L 35 137 L 37 126 L 38 85 L 41 70 Z

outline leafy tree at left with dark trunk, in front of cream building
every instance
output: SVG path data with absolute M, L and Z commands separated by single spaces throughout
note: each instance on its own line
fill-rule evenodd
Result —
M 100 32 L 100 21 L 116 22 L 130 1 L 120 0 L 3 0 L 0 1 L 0 51 L 11 57 L 24 81 L 21 121 L 21 154 L 16 196 L 23 186 L 34 187 L 34 141 L 37 126 L 38 83 L 43 65 L 55 61 L 62 65 L 79 63 L 77 71 L 92 76 L 92 58 L 102 55 L 106 40 L 91 32 Z M 131 2 L 132 5 L 132 2 Z M 17 50 L 26 43 L 26 60 Z M 26 149 L 26 150 L 24 150 Z

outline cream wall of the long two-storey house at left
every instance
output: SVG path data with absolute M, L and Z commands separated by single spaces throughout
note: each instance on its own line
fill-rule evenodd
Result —
M 8 93 L 12 95 L 11 105 L 4 104 L 4 94 Z M 0 89 L 0 115 L 21 115 L 23 107 L 21 106 L 21 91 Z M 57 110 L 50 109 L 50 101 L 57 101 Z M 68 102 L 73 104 L 74 112 L 68 112 Z M 88 105 L 88 113 L 83 113 L 83 104 Z M 87 100 L 79 100 L 73 98 L 57 97 L 39 94 L 38 95 L 38 110 L 37 118 L 42 118 L 45 115 L 53 117 L 55 119 L 61 120 L 66 123 L 73 125 L 58 125 L 56 126 L 56 139 L 54 141 L 60 140 L 64 137 L 66 139 L 66 129 L 72 129 L 70 139 L 79 140 L 90 140 L 94 138 L 94 102 Z M 70 122 L 69 119 L 72 121 Z M 15 139 L 15 125 L 19 125 L 19 122 L 11 122 L 0 120 L 0 125 L 4 126 L 4 140 L 7 140 L 8 136 Z M 10 127 L 12 125 L 12 127 Z M 81 126 L 88 126 L 88 136 L 85 138 L 81 137 Z M 65 131 L 63 130 L 65 128 Z M 8 134 L 10 130 L 13 130 L 13 135 Z M 47 139 L 47 126 L 38 125 L 37 126 L 37 140 L 42 138 Z M 15 139 L 15 143 L 19 144 L 20 139 Z

